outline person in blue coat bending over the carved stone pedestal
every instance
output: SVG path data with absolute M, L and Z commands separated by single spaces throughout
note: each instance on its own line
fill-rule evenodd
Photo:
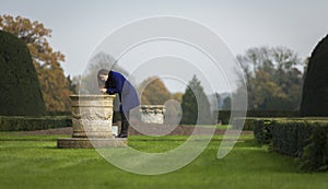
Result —
M 132 84 L 119 72 L 102 69 L 97 73 L 99 91 L 110 95 L 118 94 L 119 111 L 121 115 L 121 129 L 117 138 L 127 138 L 129 129 L 129 111 L 140 105 L 140 101 L 136 88 Z

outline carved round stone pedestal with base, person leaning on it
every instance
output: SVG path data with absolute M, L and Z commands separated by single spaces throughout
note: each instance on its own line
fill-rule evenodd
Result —
M 72 138 L 57 140 L 58 149 L 126 146 L 127 139 L 112 133 L 114 95 L 72 95 Z

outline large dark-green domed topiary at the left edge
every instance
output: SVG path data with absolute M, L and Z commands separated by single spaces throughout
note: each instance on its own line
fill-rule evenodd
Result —
M 45 103 L 26 45 L 0 31 L 0 115 L 39 116 Z

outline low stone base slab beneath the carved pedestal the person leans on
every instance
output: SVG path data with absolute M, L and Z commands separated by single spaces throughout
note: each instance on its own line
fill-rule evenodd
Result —
M 128 145 L 126 138 L 89 139 L 89 138 L 62 138 L 57 139 L 57 149 L 98 149 L 98 147 L 125 147 Z

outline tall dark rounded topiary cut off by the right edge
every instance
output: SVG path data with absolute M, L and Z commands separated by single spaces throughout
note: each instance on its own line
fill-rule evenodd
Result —
M 328 35 L 319 42 L 309 58 L 301 116 L 328 116 Z

